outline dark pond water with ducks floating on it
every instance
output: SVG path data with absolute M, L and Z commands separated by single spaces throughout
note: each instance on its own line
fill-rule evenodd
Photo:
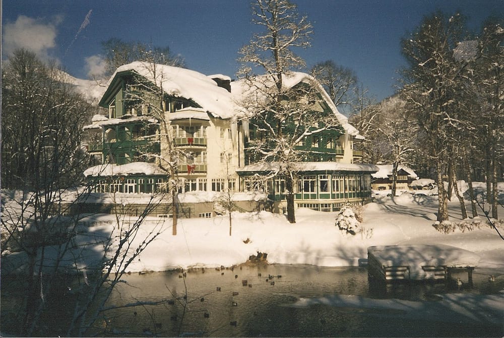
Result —
M 474 274 L 474 289 L 498 293 Z M 106 312 L 100 325 L 116 336 L 502 336 L 502 325 L 394 319 L 397 311 L 316 304 L 292 306 L 299 298 L 358 295 L 434 301 L 443 284 L 369 286 L 363 267 L 318 268 L 265 265 L 234 269 L 131 274 L 108 302 L 124 306 Z M 136 302 L 157 305 L 131 306 Z M 157 302 L 157 303 L 156 303 Z M 158 304 L 159 303 L 159 304 Z M 400 316 L 398 316 L 400 318 Z

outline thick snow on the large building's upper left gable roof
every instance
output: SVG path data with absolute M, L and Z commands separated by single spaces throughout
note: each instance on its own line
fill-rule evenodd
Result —
M 208 76 L 189 69 L 136 61 L 117 68 L 110 78 L 110 86 L 117 73 L 134 71 L 175 97 L 184 97 L 198 103 L 214 117 L 230 119 L 235 115 L 229 92 Z M 155 74 L 155 76 L 154 76 Z

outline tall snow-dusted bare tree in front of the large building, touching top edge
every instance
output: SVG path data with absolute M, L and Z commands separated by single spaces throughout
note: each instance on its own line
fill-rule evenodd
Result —
M 279 164 L 272 176 L 285 178 L 287 219 L 294 223 L 296 162 L 303 157 L 296 146 L 309 135 L 337 128 L 339 121 L 314 106 L 320 88 L 313 78 L 305 77 L 304 83 L 294 87 L 285 83 L 293 69 L 305 65 L 293 49 L 308 47 L 312 33 L 311 24 L 299 17 L 296 5 L 287 0 L 258 0 L 253 3 L 253 23 L 263 31 L 240 49 L 238 59 L 246 87 L 246 99 L 240 104 L 255 130 L 247 151 L 255 161 Z M 258 76 L 256 70 L 264 74 Z

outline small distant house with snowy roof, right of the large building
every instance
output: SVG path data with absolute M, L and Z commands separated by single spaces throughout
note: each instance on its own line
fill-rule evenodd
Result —
M 373 190 L 392 190 L 392 164 L 376 165 L 379 168 L 374 174 L 371 174 L 371 187 Z M 404 165 L 399 165 L 397 168 L 396 190 L 409 191 L 410 184 L 418 179 L 415 172 Z

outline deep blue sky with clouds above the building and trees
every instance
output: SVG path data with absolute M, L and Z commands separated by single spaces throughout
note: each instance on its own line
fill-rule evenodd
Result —
M 293 0 L 313 25 L 308 67 L 326 60 L 351 68 L 377 99 L 394 93 L 405 65 L 400 39 L 425 15 L 461 11 L 471 28 L 504 17 L 504 0 Z M 235 77 L 238 49 L 257 25 L 241 0 L 3 0 L 2 60 L 16 47 L 56 59 L 87 78 L 100 68 L 101 42 L 116 37 L 169 46 L 187 68 Z

